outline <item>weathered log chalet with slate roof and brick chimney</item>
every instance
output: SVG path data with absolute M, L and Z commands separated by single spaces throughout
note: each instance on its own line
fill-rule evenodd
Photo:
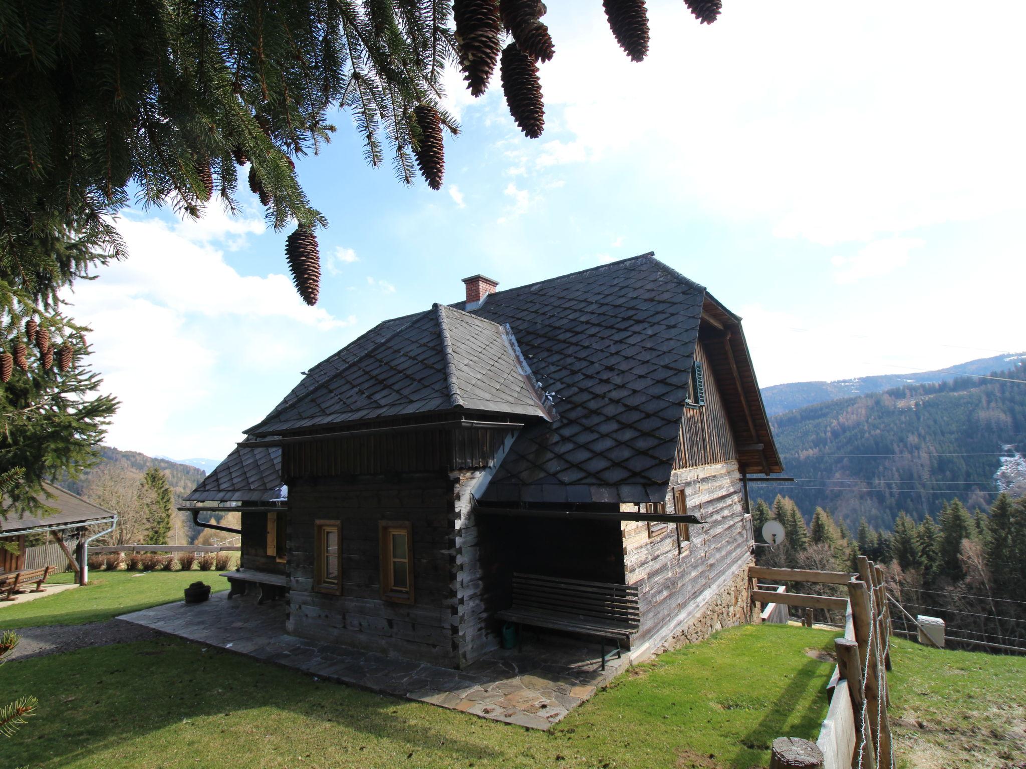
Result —
M 747 620 L 746 479 L 783 468 L 740 319 L 650 253 L 464 282 L 187 497 L 242 505 L 237 579 L 283 586 L 289 634 L 453 667 L 507 621 L 643 655 Z

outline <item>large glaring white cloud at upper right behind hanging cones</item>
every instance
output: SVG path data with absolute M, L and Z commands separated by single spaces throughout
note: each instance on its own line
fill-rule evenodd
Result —
M 706 27 L 654 0 L 641 65 L 600 12 L 553 8 L 553 138 L 525 162 L 619 162 L 648 194 L 827 246 L 1026 210 L 1026 111 L 1007 96 L 1026 4 L 999 6 L 994 23 L 966 25 L 937 0 L 885 17 L 796 0 L 786 19 L 739 0 Z

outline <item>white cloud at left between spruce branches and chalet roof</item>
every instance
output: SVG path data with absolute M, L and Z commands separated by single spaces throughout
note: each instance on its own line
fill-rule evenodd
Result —
M 244 382 L 281 377 L 284 392 L 320 355 L 323 334 L 356 323 L 307 307 L 284 275 L 243 276 L 228 265 L 213 242 L 258 234 L 251 219 L 168 225 L 133 214 L 118 230 L 129 257 L 64 294 L 75 319 L 92 328 L 89 362 L 102 391 L 121 401 L 112 445 L 224 455 L 253 414 L 273 405 Z

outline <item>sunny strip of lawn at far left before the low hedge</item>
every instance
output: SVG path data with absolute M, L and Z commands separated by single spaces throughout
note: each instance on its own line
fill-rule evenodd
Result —
M 190 582 L 202 579 L 214 591 L 228 590 L 216 571 L 91 571 L 84 588 L 37 598 L 24 604 L 0 604 L 0 630 L 34 624 L 81 624 L 118 614 L 181 601 Z M 71 572 L 56 574 L 47 584 L 73 581 Z

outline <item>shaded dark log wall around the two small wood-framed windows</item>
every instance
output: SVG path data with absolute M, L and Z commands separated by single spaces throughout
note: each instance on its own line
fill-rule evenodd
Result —
M 474 545 L 456 549 L 453 481 L 445 474 L 360 483 L 306 479 L 289 484 L 286 631 L 304 638 L 459 666 L 458 566 L 473 581 Z M 342 522 L 342 595 L 313 590 L 314 522 Z M 412 525 L 413 603 L 381 597 L 379 522 Z M 471 534 L 470 531 L 463 532 Z M 460 559 L 463 563 L 458 564 Z M 473 600 L 465 590 L 464 600 Z

